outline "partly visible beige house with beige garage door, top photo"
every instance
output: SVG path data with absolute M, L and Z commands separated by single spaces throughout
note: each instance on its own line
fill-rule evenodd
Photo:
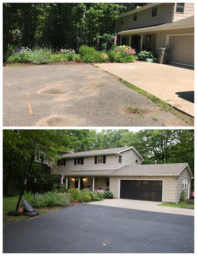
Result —
M 136 51 L 170 50 L 170 63 L 194 66 L 194 3 L 150 3 L 115 20 L 120 44 Z

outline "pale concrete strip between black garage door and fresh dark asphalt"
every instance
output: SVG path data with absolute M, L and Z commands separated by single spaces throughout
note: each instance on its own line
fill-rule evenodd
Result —
M 158 213 L 172 213 L 172 214 L 194 216 L 194 210 L 192 209 L 158 206 L 158 204 L 160 203 L 161 202 L 114 198 L 114 199 L 105 199 L 100 202 L 91 202 L 90 204 L 120 207 L 120 208 L 135 209 L 135 210 L 147 210 L 147 211 L 158 212 Z

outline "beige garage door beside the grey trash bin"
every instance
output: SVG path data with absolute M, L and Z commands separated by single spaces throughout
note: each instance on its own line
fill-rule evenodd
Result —
M 168 49 L 171 63 L 194 66 L 194 35 L 170 35 Z

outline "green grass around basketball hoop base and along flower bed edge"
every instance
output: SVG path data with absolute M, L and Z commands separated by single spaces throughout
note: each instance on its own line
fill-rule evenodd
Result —
M 20 220 L 25 219 L 25 218 L 30 218 L 30 217 L 27 217 L 27 216 L 10 216 L 10 215 L 7 215 L 7 212 L 9 210 L 15 210 L 17 202 L 18 202 L 18 198 L 19 198 L 18 195 L 3 198 L 3 225 L 7 225 L 7 224 L 10 224 L 12 222 L 20 221 Z M 19 208 L 23 208 L 22 203 L 20 203 Z M 55 208 L 46 207 L 46 208 L 37 208 L 35 210 L 38 211 L 39 214 L 43 214 L 43 213 L 49 213 L 49 212 L 52 212 L 52 211 L 60 210 L 62 208 L 63 207 L 55 207 Z

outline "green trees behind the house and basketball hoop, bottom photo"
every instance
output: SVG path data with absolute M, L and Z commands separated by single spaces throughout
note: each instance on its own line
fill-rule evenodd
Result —
M 194 174 L 194 130 L 4 130 L 3 131 L 3 193 L 17 194 L 25 177 L 35 143 L 49 149 L 55 160 L 66 152 L 133 146 L 145 159 L 143 164 L 188 162 Z M 27 190 L 51 190 L 59 175 L 51 175 L 50 167 L 33 162 Z

